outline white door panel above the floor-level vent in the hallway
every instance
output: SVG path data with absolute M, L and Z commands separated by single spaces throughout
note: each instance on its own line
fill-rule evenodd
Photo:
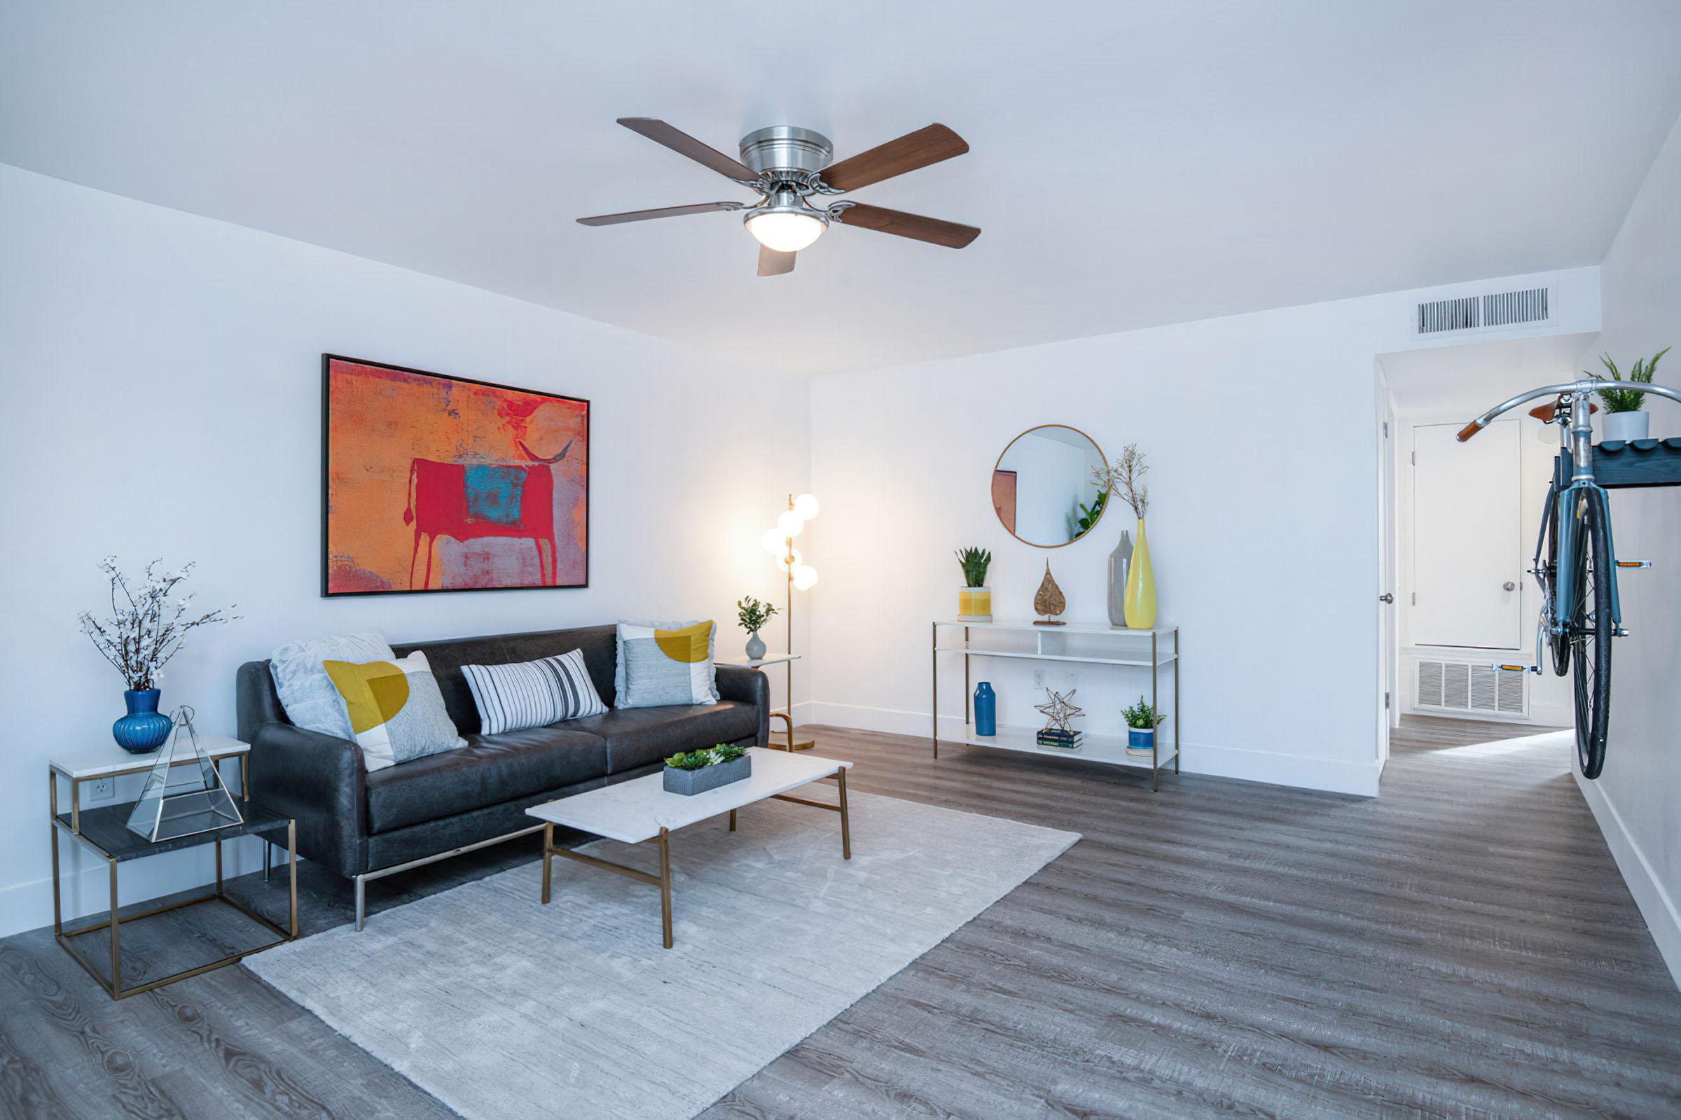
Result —
M 1459 425 L 1412 430 L 1412 643 L 1516 650 L 1518 423 L 1461 443 Z

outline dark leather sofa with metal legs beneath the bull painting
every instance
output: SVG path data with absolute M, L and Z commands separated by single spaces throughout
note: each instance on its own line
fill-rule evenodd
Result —
M 356 927 L 368 878 L 541 828 L 526 808 L 657 771 L 677 751 L 765 746 L 770 682 L 718 670 L 718 704 L 615 709 L 614 626 L 392 646 L 424 650 L 466 747 L 366 772 L 361 747 L 286 719 L 267 662 L 239 667 L 239 737 L 250 744 L 250 789 L 298 821 L 298 851 L 355 880 Z M 501 735 L 479 734 L 462 665 L 531 662 L 582 650 L 602 715 Z

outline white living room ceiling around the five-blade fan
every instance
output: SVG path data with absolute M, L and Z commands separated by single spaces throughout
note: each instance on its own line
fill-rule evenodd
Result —
M 1681 3 L 1236 0 L 0 7 L 0 161 L 820 373 L 1595 264 L 1681 113 Z M 837 158 L 980 225 L 755 275 L 745 198 L 614 124 Z

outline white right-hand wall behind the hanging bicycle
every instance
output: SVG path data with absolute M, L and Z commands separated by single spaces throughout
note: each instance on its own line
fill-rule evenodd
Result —
M 1681 124 L 1656 163 L 1602 265 L 1604 332 L 1627 369 L 1637 356 L 1676 349 L 1657 368 L 1681 385 Z M 1681 408 L 1647 405 L 1652 435 L 1681 433 Z M 1681 984 L 1681 490 L 1614 490 L 1617 554 L 1654 568 L 1619 576 L 1622 620 L 1612 658 L 1605 769 L 1580 781 L 1617 865 L 1641 905 L 1669 971 Z

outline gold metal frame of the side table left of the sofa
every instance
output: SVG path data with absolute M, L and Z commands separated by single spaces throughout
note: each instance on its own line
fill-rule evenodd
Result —
M 151 767 L 146 766 L 146 767 L 141 767 L 141 769 L 151 769 Z M 213 841 L 210 841 L 215 846 L 215 888 L 212 890 L 212 893 L 200 895 L 197 898 L 180 898 L 177 902 L 166 902 L 166 903 L 161 903 L 161 905 L 141 910 L 140 913 L 129 913 L 129 915 L 124 917 L 119 912 L 119 908 L 118 908 L 118 865 L 119 863 L 126 863 L 126 860 L 118 860 L 109 851 L 106 851 L 104 848 L 101 848 L 99 845 L 96 845 L 92 840 L 89 840 L 87 836 L 84 836 L 81 833 L 81 814 L 76 813 L 77 806 L 76 806 L 76 801 L 74 801 L 74 798 L 76 798 L 76 794 L 74 794 L 74 784 L 72 784 L 72 794 L 71 794 L 72 796 L 72 803 L 71 803 L 72 816 L 71 816 L 69 821 L 66 821 L 66 819 L 62 819 L 59 816 L 59 782 L 57 782 L 57 777 L 59 777 L 57 771 L 49 771 L 49 776 L 47 776 L 47 779 L 49 779 L 47 808 L 49 808 L 49 819 L 52 821 L 52 836 L 50 836 L 50 841 L 52 841 L 52 939 L 57 940 L 59 945 L 64 947 L 64 952 L 71 954 L 71 957 L 76 959 L 76 964 L 82 966 L 82 969 L 87 971 L 87 976 L 94 977 L 94 981 L 99 984 L 99 987 L 103 987 L 106 991 L 106 994 L 111 996 L 111 999 L 126 999 L 129 996 L 138 996 L 140 992 L 150 992 L 155 987 L 163 987 L 165 984 L 173 984 L 175 981 L 185 981 L 190 976 L 200 976 L 203 972 L 212 972 L 215 969 L 222 969 L 222 967 L 227 967 L 230 964 L 237 964 L 239 960 L 242 960 L 244 957 L 249 957 L 254 952 L 262 952 L 264 949 L 274 949 L 276 945 L 289 942 L 289 940 L 294 940 L 298 937 L 298 821 L 294 821 L 291 818 L 286 819 L 286 861 L 291 866 L 291 888 L 289 888 L 289 919 L 291 919 L 289 925 L 291 925 L 291 930 L 289 932 L 282 930 L 279 925 L 276 925 L 269 919 L 262 917 L 261 913 L 257 913 L 256 910 L 252 910 L 249 905 L 245 905 L 239 898 L 234 898 L 232 895 L 229 895 L 229 893 L 224 892 L 224 888 L 222 888 L 224 887 L 222 885 L 222 840 L 224 838 L 222 836 L 217 836 Z M 249 798 L 247 798 L 247 803 L 249 803 Z M 276 824 L 272 824 L 269 828 L 274 830 L 274 828 L 279 828 L 279 824 L 276 823 Z M 94 851 L 96 855 L 99 855 L 106 861 L 106 865 L 108 865 L 109 883 L 111 883 L 111 912 L 106 915 L 106 919 L 103 922 L 96 922 L 92 925 L 84 925 L 84 927 L 72 929 L 72 930 L 66 930 L 64 929 L 62 892 L 61 892 L 61 882 L 59 882 L 59 878 L 61 878 L 59 877 L 59 835 L 61 833 L 64 833 L 66 836 L 72 836 L 72 838 L 82 841 L 82 845 L 89 851 Z M 267 838 L 259 836 L 256 831 L 239 833 L 237 836 L 230 836 L 229 840 L 239 840 L 239 836 L 256 836 L 257 840 L 262 840 L 264 845 L 269 843 Z M 264 942 L 261 945 L 252 945 L 250 949 L 242 949 L 242 950 L 239 950 L 239 952 L 235 952 L 232 955 L 222 957 L 219 960 L 212 960 L 210 964 L 202 964 L 202 966 L 197 966 L 197 967 L 192 967 L 192 969 L 183 969 L 180 972 L 171 972 L 170 976 L 163 976 L 163 977 L 158 977 L 155 981 L 146 981 L 145 984 L 136 984 L 134 987 L 123 987 L 123 937 L 121 937 L 123 927 L 124 925 L 131 925 L 134 922 L 140 922 L 143 919 L 155 917 L 158 913 L 166 913 L 170 910 L 180 910 L 183 907 L 193 907 L 193 905 L 200 905 L 200 903 L 205 903 L 205 902 L 224 902 L 224 903 L 234 907 L 240 913 L 254 919 L 259 925 L 262 925 L 264 929 L 267 929 L 269 932 L 272 932 L 276 939 L 269 940 L 269 942 Z M 99 976 L 99 971 L 94 967 L 92 960 L 89 960 L 87 957 L 84 957 L 82 952 L 81 952 L 81 949 L 77 949 L 77 945 L 74 942 L 74 939 L 77 939 L 77 937 L 84 937 L 87 934 L 96 934 L 96 932 L 104 930 L 104 929 L 111 930 L 111 979 L 109 981 L 106 981 L 106 977 Z

